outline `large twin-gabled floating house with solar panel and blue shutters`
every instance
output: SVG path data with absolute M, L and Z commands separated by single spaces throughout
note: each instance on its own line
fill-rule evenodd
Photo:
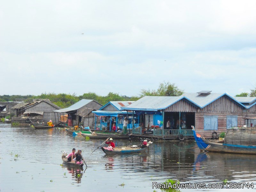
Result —
M 241 101 L 241 100 L 240 100 Z M 191 125 L 206 138 L 224 132 L 231 127 L 243 126 L 245 117 L 255 117 L 256 100 L 251 98 L 247 105 L 239 102 L 227 93 L 212 93 L 201 91 L 197 93 L 184 93 L 181 96 L 161 97 L 145 96 L 131 105 L 121 107 L 123 111 L 132 111 L 138 115 L 154 119 L 154 115 L 162 116 L 162 129 L 159 125 L 161 119 L 149 121 L 153 128 L 152 136 L 173 138 L 177 136 L 192 136 Z M 146 119 L 146 118 L 145 118 Z M 256 118 L 255 118 L 256 119 Z M 167 121 L 171 127 L 167 129 Z M 144 122 L 147 127 L 147 121 Z M 142 128 L 133 128 L 134 134 L 142 134 Z

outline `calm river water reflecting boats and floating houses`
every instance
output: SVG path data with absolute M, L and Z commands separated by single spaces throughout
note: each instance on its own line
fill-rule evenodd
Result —
M 193 140 L 154 142 L 146 154 L 107 156 L 98 149 L 90 155 L 103 141 L 73 137 L 57 128 L 36 130 L 0 123 L 0 191 L 153 192 L 161 190 L 152 189 L 152 182 L 162 183 L 166 179 L 181 183 L 208 184 L 225 179 L 256 183 L 256 156 L 253 155 L 203 153 L 198 148 L 186 150 L 196 146 Z M 116 140 L 115 143 L 116 146 L 138 145 L 140 141 Z M 87 169 L 62 165 L 63 149 L 70 153 L 72 148 L 83 151 Z M 246 189 L 249 190 L 254 191 Z

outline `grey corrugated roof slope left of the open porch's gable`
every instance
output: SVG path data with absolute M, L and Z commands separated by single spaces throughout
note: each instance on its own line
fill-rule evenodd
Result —
M 182 96 L 145 96 L 127 107 L 121 107 L 121 109 L 157 111 L 169 107 L 170 105 L 172 105 L 173 103 L 177 102 L 182 98 Z

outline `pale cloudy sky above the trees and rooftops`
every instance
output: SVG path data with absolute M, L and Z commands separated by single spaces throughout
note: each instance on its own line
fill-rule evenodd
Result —
M 256 1 L 2 1 L 0 95 L 256 86 Z M 4 83 L 3 83 L 4 82 Z

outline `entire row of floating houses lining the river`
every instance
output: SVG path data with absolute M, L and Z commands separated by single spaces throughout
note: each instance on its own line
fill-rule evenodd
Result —
M 12 114 L 5 122 L 41 124 L 39 128 L 43 128 L 51 120 L 55 127 L 96 134 L 122 133 L 127 118 L 125 135 L 153 140 L 194 139 L 193 127 L 202 137 L 217 139 L 231 128 L 256 126 L 256 97 L 232 97 L 211 91 L 144 96 L 137 101 L 110 101 L 104 106 L 82 99 L 63 109 L 50 100 L 16 99 L 0 102 L 0 110 L 2 118 Z

